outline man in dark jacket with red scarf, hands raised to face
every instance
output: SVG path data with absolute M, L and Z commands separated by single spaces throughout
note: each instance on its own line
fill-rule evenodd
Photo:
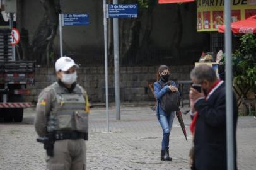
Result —
M 195 67 L 190 77 L 201 91 L 190 89 L 194 118 L 190 130 L 194 134 L 194 160 L 196 170 L 226 170 L 226 93 L 224 81 L 208 65 Z M 232 87 L 230 87 L 232 88 Z M 234 167 L 236 166 L 236 123 L 238 111 L 233 97 Z

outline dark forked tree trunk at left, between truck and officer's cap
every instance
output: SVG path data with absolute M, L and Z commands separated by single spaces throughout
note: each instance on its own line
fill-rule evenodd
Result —
M 42 6 L 45 9 L 43 20 L 40 22 L 32 43 L 28 40 L 28 31 L 23 28 L 22 25 L 22 13 L 21 17 L 21 47 L 22 47 L 22 59 L 23 60 L 37 60 L 37 64 L 50 65 L 50 54 L 52 52 L 52 43 L 56 36 L 57 28 L 59 25 L 58 13 L 56 9 L 55 1 L 52 0 L 40 0 Z M 20 5 L 22 8 L 22 6 Z M 22 10 L 22 9 L 20 9 Z

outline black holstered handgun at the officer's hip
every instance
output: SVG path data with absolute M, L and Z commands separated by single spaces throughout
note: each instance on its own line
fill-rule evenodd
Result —
M 44 149 L 46 150 L 47 156 L 54 156 L 54 133 L 48 133 L 45 137 L 38 137 L 37 142 L 44 144 Z

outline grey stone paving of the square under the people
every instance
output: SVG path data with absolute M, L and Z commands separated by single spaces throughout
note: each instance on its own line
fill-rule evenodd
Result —
M 0 123 L 0 169 L 45 169 L 45 150 L 35 142 L 35 110 L 25 111 L 22 123 Z M 161 127 L 149 107 L 122 107 L 122 121 L 115 120 L 110 108 L 110 132 L 107 133 L 105 108 L 93 108 L 90 135 L 86 142 L 87 169 L 189 169 L 188 142 L 183 137 L 177 118 L 170 137 L 173 161 L 160 161 Z M 189 125 L 189 115 L 183 115 Z M 240 117 L 237 130 L 238 167 L 256 169 L 256 120 Z

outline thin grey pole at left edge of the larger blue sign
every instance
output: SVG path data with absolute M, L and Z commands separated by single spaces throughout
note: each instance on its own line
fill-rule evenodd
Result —
M 104 51 L 105 51 L 105 89 L 106 89 L 106 116 L 107 130 L 109 132 L 109 116 L 108 116 L 108 37 L 107 37 L 107 18 L 106 18 L 106 0 L 103 0 L 103 24 L 104 24 Z

